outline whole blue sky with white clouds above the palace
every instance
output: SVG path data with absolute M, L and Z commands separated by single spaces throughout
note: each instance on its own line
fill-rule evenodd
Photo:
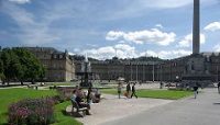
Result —
M 191 54 L 194 0 L 0 0 L 0 46 L 97 59 Z M 200 52 L 220 52 L 220 0 L 200 0 Z

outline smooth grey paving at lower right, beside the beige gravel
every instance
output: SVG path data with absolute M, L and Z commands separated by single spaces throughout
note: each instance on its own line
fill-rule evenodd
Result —
M 219 125 L 220 95 L 216 88 L 100 125 Z M 147 104 L 145 104 L 147 106 Z

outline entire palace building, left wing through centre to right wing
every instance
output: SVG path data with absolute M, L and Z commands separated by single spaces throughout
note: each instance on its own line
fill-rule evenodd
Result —
M 68 52 L 52 47 L 26 47 L 47 68 L 46 81 L 70 81 L 80 79 L 81 61 L 75 61 Z M 91 61 L 90 80 L 117 80 L 119 77 L 131 81 L 183 81 L 190 79 L 220 81 L 220 53 L 200 53 L 163 61 L 134 61 L 118 59 Z M 200 76 L 200 77 L 197 77 Z

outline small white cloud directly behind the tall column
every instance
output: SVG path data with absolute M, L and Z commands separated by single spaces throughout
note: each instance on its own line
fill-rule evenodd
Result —
M 200 34 L 200 44 L 206 43 L 205 34 Z M 178 43 L 176 47 L 189 47 L 193 45 L 193 34 L 188 34 L 185 36 L 183 41 Z

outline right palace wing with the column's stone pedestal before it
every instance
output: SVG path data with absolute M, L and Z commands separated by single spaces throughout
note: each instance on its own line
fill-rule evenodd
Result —
M 157 65 L 157 72 L 162 81 L 193 82 L 220 81 L 220 53 L 200 53 L 170 60 Z

